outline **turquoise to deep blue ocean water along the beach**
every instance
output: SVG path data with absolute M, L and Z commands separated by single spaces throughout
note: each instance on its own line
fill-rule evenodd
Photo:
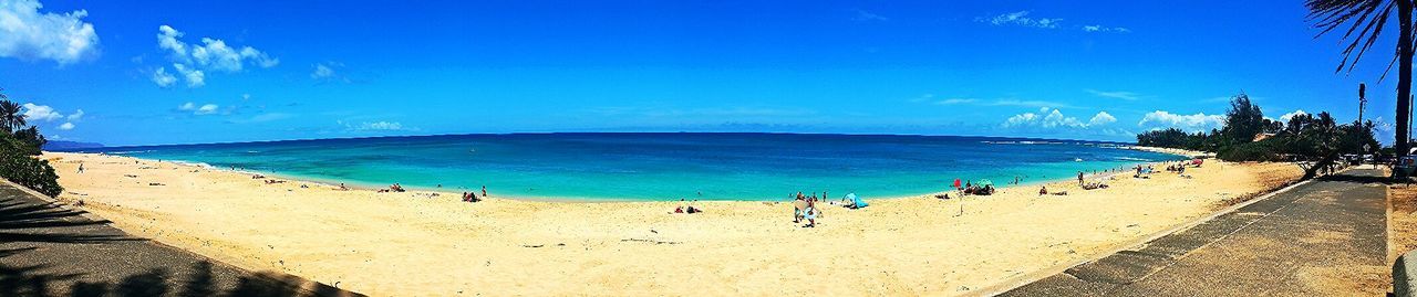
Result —
M 784 199 L 937 192 L 955 178 L 1005 185 L 1182 157 L 1101 143 L 954 136 L 762 133 L 468 134 L 111 147 L 109 154 L 205 163 L 351 185 L 565 199 Z

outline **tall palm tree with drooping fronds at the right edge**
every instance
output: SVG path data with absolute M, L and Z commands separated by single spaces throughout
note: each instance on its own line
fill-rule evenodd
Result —
M 1346 28 L 1345 41 L 1352 41 L 1343 48 L 1343 61 L 1339 71 L 1353 71 L 1353 65 L 1363 58 L 1363 54 L 1373 47 L 1373 41 L 1387 25 L 1387 17 L 1397 10 L 1397 51 L 1383 76 L 1397 65 L 1397 156 L 1407 156 L 1410 140 L 1407 139 L 1407 119 L 1411 109 L 1413 82 L 1413 0 L 1305 0 L 1309 8 L 1309 20 L 1314 27 L 1328 34 L 1336 28 Z M 1356 33 L 1356 34 L 1355 34 Z M 1382 78 L 1379 78 L 1382 81 Z

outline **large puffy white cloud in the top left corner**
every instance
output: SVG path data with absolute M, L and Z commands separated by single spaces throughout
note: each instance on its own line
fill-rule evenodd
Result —
M 64 65 L 98 55 L 94 24 L 85 10 L 40 13 L 38 0 L 0 0 L 0 57 L 54 59 Z

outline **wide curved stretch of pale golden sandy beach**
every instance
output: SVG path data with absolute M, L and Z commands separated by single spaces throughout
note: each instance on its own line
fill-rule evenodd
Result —
M 1076 181 L 990 197 L 791 202 L 461 202 L 459 192 L 339 191 L 130 157 L 45 153 L 61 201 L 139 236 L 251 270 L 371 296 L 959 296 L 1209 215 L 1301 175 L 1207 160 L 1105 190 Z M 84 173 L 78 165 L 84 164 Z M 1159 168 L 1158 168 L 1159 170 Z

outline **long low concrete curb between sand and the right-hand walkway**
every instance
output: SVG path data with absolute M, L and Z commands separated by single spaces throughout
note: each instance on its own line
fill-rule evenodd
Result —
M 1342 171 L 1338 171 L 1338 173 L 1343 173 L 1343 171 L 1348 171 L 1348 168 L 1345 168 Z M 1000 281 L 998 284 L 993 284 L 993 286 L 989 286 L 989 287 L 983 287 L 983 289 L 971 291 L 971 293 L 968 293 L 965 296 L 998 296 L 998 294 L 1003 294 L 1003 293 L 1010 291 L 1013 289 L 1019 289 L 1019 287 L 1023 287 L 1026 284 L 1043 280 L 1046 277 L 1050 277 L 1050 276 L 1067 272 L 1068 269 L 1073 269 L 1073 267 L 1077 267 L 1077 266 L 1081 266 L 1081 264 L 1087 264 L 1090 262 L 1100 260 L 1100 259 L 1111 256 L 1114 253 L 1118 253 L 1118 252 L 1122 252 L 1122 250 L 1132 250 L 1132 249 L 1144 248 L 1144 246 L 1146 246 L 1146 243 L 1149 243 L 1152 240 L 1156 240 L 1156 239 L 1161 239 L 1161 238 L 1163 238 L 1166 235 L 1195 228 L 1195 226 L 1197 226 L 1200 223 L 1204 223 L 1204 222 L 1212 221 L 1214 218 L 1219 218 L 1221 215 L 1226 215 L 1226 214 L 1230 214 L 1230 212 L 1236 212 L 1240 208 L 1248 206 L 1251 204 L 1255 204 L 1255 202 L 1260 202 L 1260 201 L 1264 201 L 1264 199 L 1270 199 L 1274 195 L 1278 195 L 1278 194 L 1282 194 L 1282 192 L 1288 192 L 1289 190 L 1294 190 L 1294 188 L 1297 188 L 1299 185 L 1305 185 L 1305 184 L 1314 182 L 1315 180 L 1318 180 L 1318 178 L 1294 182 L 1291 185 L 1287 185 L 1284 188 L 1271 191 L 1268 194 L 1264 194 L 1264 195 L 1260 195 L 1260 197 L 1255 197 L 1255 198 L 1250 198 L 1246 202 L 1230 205 L 1230 206 L 1227 206 L 1224 209 L 1220 209 L 1220 211 L 1216 211 L 1216 212 L 1213 212 L 1210 215 L 1206 215 L 1206 216 L 1202 216 L 1202 218 L 1196 218 L 1196 219 L 1183 222 L 1183 223 L 1176 225 L 1176 226 L 1173 226 L 1170 229 L 1158 231 L 1155 233 L 1146 235 L 1145 238 L 1139 238 L 1139 239 L 1135 239 L 1135 240 L 1125 242 L 1122 245 L 1118 245 L 1118 248 L 1115 248 L 1115 249 L 1100 252 L 1100 253 L 1094 255 L 1093 257 L 1077 260 L 1077 262 L 1070 262 L 1070 263 L 1063 263 L 1063 264 L 1056 264 L 1053 267 L 1047 267 L 1047 269 L 1041 269 L 1041 270 L 1037 270 L 1037 272 L 1033 272 L 1033 273 L 1017 276 L 1017 277 Z M 1413 257 L 1417 257 L 1417 255 L 1414 255 Z M 1417 296 L 1414 296 L 1414 297 L 1417 297 Z

